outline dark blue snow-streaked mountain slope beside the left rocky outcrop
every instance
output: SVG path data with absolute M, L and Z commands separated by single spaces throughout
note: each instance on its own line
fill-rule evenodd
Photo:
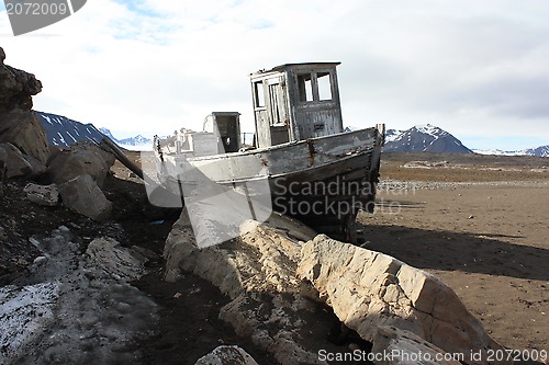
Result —
M 103 139 L 103 135 L 92 124 L 82 124 L 61 115 L 34 112 L 42 123 L 47 139 L 54 146 L 69 146 L 79 140 L 92 140 L 96 142 Z

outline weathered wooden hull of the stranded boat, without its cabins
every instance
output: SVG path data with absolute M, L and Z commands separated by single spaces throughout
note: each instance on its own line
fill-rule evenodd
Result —
M 214 183 L 257 203 L 267 192 L 262 205 L 354 241 L 357 213 L 373 212 L 382 140 L 380 129 L 367 128 L 236 153 L 157 153 L 157 172 L 173 194 Z

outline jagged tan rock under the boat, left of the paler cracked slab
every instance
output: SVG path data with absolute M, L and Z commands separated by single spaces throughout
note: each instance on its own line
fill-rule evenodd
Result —
M 183 209 L 164 248 L 166 280 L 176 281 L 181 270 L 193 272 L 231 298 L 266 286 L 270 286 L 273 293 L 301 293 L 305 288 L 311 292 L 311 287 L 303 285 L 293 271 L 300 260 L 300 240 L 306 241 L 315 232 L 278 214 L 266 224 L 248 220 L 244 225 L 242 230 L 247 232 L 240 239 L 199 249 Z M 293 289 L 289 290 L 290 287 Z

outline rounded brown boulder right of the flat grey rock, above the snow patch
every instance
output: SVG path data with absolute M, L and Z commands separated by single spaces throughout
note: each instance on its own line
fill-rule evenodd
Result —
M 59 185 L 63 204 L 93 220 L 109 219 L 112 203 L 90 175 L 81 175 Z

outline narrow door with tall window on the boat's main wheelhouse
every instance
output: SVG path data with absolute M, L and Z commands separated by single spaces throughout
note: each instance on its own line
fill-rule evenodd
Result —
M 271 146 L 290 141 L 290 113 L 285 81 L 282 76 L 265 80 Z

